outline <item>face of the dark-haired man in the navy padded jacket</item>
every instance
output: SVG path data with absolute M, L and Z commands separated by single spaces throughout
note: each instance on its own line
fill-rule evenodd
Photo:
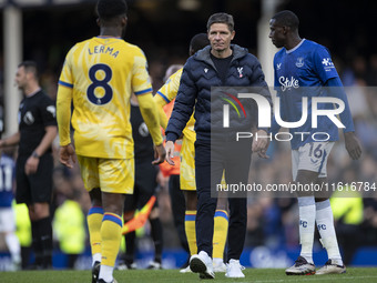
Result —
M 208 30 L 208 40 L 213 50 L 222 52 L 231 47 L 235 32 L 226 23 L 213 23 Z

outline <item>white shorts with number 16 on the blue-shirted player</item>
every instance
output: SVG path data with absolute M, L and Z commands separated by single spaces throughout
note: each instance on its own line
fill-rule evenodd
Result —
M 296 181 L 298 170 L 318 172 L 318 178 L 327 176 L 327 159 L 334 142 L 309 142 L 292 150 L 292 174 Z

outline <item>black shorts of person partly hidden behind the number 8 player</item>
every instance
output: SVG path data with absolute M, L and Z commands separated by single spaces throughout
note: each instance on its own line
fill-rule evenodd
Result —
M 124 201 L 124 211 L 134 211 L 142 209 L 145 203 L 155 194 L 157 168 L 151 164 L 151 161 L 135 163 L 135 184 L 133 194 L 126 194 Z M 154 203 L 154 208 L 157 202 Z

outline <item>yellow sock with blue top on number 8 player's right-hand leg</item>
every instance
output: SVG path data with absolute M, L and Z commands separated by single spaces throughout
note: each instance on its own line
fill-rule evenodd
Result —
M 101 265 L 114 266 L 121 246 L 123 221 L 120 215 L 104 213 L 101 237 L 102 237 L 102 261 Z

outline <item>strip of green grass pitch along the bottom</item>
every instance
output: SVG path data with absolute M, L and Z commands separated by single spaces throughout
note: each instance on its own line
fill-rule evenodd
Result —
M 246 269 L 245 279 L 227 279 L 224 273 L 216 273 L 215 280 L 204 282 L 308 282 L 308 283 L 371 283 L 377 282 L 377 267 L 348 267 L 346 274 L 287 276 L 282 269 Z M 191 283 L 203 282 L 197 274 L 181 274 L 179 270 L 132 270 L 115 271 L 114 277 L 119 283 Z M 91 283 L 90 271 L 20 271 L 0 272 L 0 283 Z

